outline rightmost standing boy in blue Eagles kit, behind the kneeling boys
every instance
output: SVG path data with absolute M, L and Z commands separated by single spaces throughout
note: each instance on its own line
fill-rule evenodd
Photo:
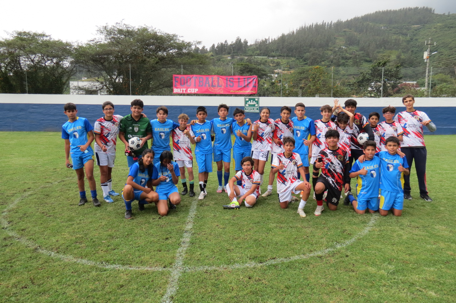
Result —
M 296 103 L 295 105 L 296 117 L 291 118 L 293 122 L 294 134 L 293 138 L 296 141 L 294 153 L 299 154 L 306 174 L 306 181 L 310 180 L 309 173 L 309 154 L 312 154 L 312 142 L 316 138 L 315 123 L 311 118 L 305 116 L 306 106 L 304 103 Z M 301 174 L 298 173 L 298 179 Z

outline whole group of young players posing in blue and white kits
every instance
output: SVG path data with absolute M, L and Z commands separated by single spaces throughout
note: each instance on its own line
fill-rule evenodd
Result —
M 435 131 L 429 117 L 413 108 L 415 99 L 412 95 L 404 96 L 403 103 L 406 111 L 396 117 L 394 107 L 383 108 L 385 121 L 382 123 L 378 123 L 378 113 L 369 114 L 368 119 L 355 113 L 357 103 L 353 99 L 348 99 L 344 108 L 337 99 L 333 107 L 322 106 L 322 118 L 315 121 L 306 117 L 303 103 L 295 105 L 293 118 L 290 118 L 292 110 L 288 106 L 280 109 L 280 118 L 276 120 L 269 118 L 269 108 L 261 108 L 259 120 L 253 123 L 245 119 L 240 108 L 234 110 L 234 118 L 228 118 L 228 106 L 220 104 L 218 118 L 206 120 L 207 110 L 200 106 L 196 120 L 189 123 L 187 114 L 182 113 L 176 123 L 167 119 L 165 106 L 158 107 L 157 118 L 149 120 L 142 113 L 144 104 L 140 99 L 131 102 L 131 114 L 125 117 L 114 115 L 114 104 L 108 101 L 103 103 L 104 117 L 99 118 L 94 127 L 87 119 L 77 116 L 73 103 L 67 103 L 64 113 L 68 121 L 62 126 L 62 139 L 65 139 L 66 165 L 75 169 L 78 176 L 79 205 L 88 201 L 84 189 L 85 170 L 94 206 L 100 206 L 100 202 L 93 178 L 91 143 L 95 139 L 101 188 L 108 203 L 114 201 L 111 196 L 119 195 L 112 190 L 111 176 L 117 136 L 124 143 L 130 172 L 121 195 L 127 219 L 133 216 L 131 204 L 134 200 L 138 201 L 139 211 L 144 210 L 145 204 L 155 203 L 158 213 L 166 216 L 169 209 L 181 202 L 181 195 L 195 196 L 192 144 L 198 167 L 199 200 L 207 195 L 207 179 L 213 161 L 217 164 L 217 193 L 224 191 L 229 197 L 229 203 L 223 208 L 239 209 L 242 203 L 252 207 L 261 195 L 264 167 L 270 154 L 269 182 L 262 196 L 272 194 L 277 174 L 276 189 L 281 208 L 300 200 L 297 212 L 305 217 L 304 207 L 313 187 L 316 216 L 324 210 L 323 200 L 330 210 L 336 210 L 342 190 L 346 194 L 344 204 L 352 204 L 357 213 L 365 213 L 368 209 L 386 216 L 392 210 L 395 216 L 400 216 L 404 198 L 412 199 L 408 168 L 413 159 L 420 196 L 432 201 L 425 185 L 423 126 Z M 364 144 L 358 143 L 360 133 L 369 136 Z M 140 149 L 130 149 L 128 140 L 133 137 L 140 138 Z M 151 149 L 149 139 L 152 139 Z M 232 149 L 236 175 L 230 179 Z M 73 164 L 69 161 L 70 154 Z M 178 177 L 181 177 L 183 187 L 180 194 L 176 186 Z M 357 178 L 356 197 L 351 192 L 350 178 Z M 300 194 L 301 199 L 292 193 Z

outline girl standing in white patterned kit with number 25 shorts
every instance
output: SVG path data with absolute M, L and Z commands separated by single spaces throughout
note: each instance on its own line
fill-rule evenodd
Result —
M 264 165 L 268 161 L 272 144 L 274 120 L 269 119 L 269 113 L 269 108 L 261 108 L 260 118 L 254 122 L 252 129 L 252 138 L 254 139 L 252 143 L 252 158 L 254 159 L 254 170 L 261 176 L 260 185 L 263 184 Z

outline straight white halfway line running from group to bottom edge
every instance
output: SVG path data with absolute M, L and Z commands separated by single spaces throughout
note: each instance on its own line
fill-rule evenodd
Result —
M 193 234 L 193 220 L 195 219 L 196 210 L 197 210 L 197 202 L 198 200 L 193 200 L 192 206 L 190 207 L 190 211 L 187 216 L 187 224 L 184 228 L 184 233 L 181 238 L 181 245 L 176 252 L 176 262 L 174 266 L 171 267 L 171 277 L 168 282 L 168 286 L 166 287 L 166 293 L 161 298 L 161 302 L 163 303 L 172 303 L 172 298 L 176 294 L 177 289 L 179 288 L 179 277 L 183 272 L 183 263 L 185 258 L 185 252 L 187 251 L 188 246 L 190 245 L 190 238 Z

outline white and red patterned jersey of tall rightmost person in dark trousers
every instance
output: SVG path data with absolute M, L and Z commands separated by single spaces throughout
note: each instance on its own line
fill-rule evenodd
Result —
M 408 146 L 426 146 L 425 139 L 423 138 L 423 124 L 422 122 L 430 121 L 430 118 L 425 112 L 415 110 L 414 112 L 400 112 L 394 117 L 394 121 L 398 122 L 402 127 L 404 139 L 401 147 Z

